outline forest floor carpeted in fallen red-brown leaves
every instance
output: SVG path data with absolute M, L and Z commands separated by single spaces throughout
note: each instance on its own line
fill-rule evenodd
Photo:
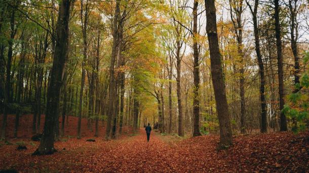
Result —
M 10 120 L 10 118 L 9 118 Z M 309 133 L 289 132 L 237 136 L 234 145 L 217 151 L 219 137 L 205 135 L 182 139 L 177 135 L 152 132 L 146 141 L 143 129 L 135 135 L 128 128 L 117 140 L 104 141 L 104 129 L 93 137 L 83 120 L 83 138 L 76 139 L 76 118 L 69 118 L 68 136 L 55 143 L 53 155 L 31 156 L 39 142 L 21 137 L 0 142 L 0 170 L 18 172 L 308 172 Z M 10 122 L 10 121 L 9 121 Z M 31 122 L 24 117 L 21 125 Z M 9 123 L 10 125 L 10 123 Z M 22 128 L 28 131 L 31 125 Z M 31 128 L 30 128 L 31 129 Z M 30 131 L 31 132 L 31 131 Z M 31 134 L 31 133 L 30 133 Z M 95 142 L 87 142 L 87 139 Z M 16 150 L 18 144 L 26 150 Z

